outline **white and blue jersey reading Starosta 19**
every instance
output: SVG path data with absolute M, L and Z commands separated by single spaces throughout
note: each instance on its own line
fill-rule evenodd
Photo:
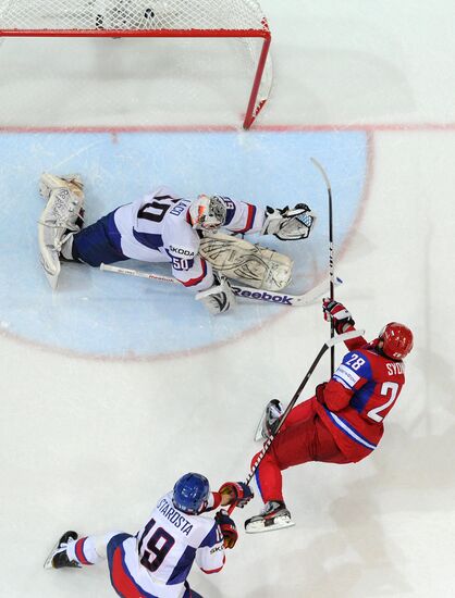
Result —
M 205 573 L 217 573 L 225 561 L 223 537 L 214 519 L 179 511 L 172 503 L 172 493 L 158 501 L 149 521 L 136 534 L 136 541 L 137 576 L 142 577 L 136 583 L 160 598 L 184 595 L 195 561 Z M 128 571 L 132 574 L 134 568 L 128 565 Z

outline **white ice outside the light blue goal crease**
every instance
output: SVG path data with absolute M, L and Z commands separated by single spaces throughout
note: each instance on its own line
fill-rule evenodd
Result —
M 195 569 L 189 580 L 208 598 L 453 596 L 453 2 L 262 0 L 262 5 L 273 33 L 274 87 L 258 125 L 368 130 L 368 197 L 337 256 L 345 278 L 337 295 L 370 337 L 399 320 L 411 326 L 416 344 L 376 453 L 355 465 L 315 463 L 285 472 L 296 526 L 255 536 L 241 530 L 221 574 L 205 576 Z M 139 43 L 132 43 L 142 55 Z M 220 94 L 216 101 L 204 77 L 193 86 L 181 72 L 188 103 L 173 101 L 169 108 L 162 97 L 146 94 L 140 73 L 130 80 L 121 63 L 115 64 L 125 85 L 137 90 L 127 114 L 116 108 L 102 113 L 102 102 L 88 100 L 84 110 L 84 96 L 75 91 L 87 83 L 84 67 L 101 68 L 96 62 L 102 63 L 104 49 L 85 42 L 79 55 L 77 43 L 71 47 L 77 54 L 74 62 L 65 60 L 74 94 L 65 97 L 65 86 L 54 78 L 59 68 L 44 62 L 46 41 L 3 42 L 0 127 L 49 126 L 52 119 L 60 126 L 73 103 L 71 124 L 123 126 L 142 113 L 151 125 L 238 122 L 243 101 L 235 94 Z M 59 63 L 60 52 L 52 55 Z M 171 91 L 177 86 L 172 64 L 167 54 L 157 66 L 160 86 L 169 84 Z M 110 90 L 109 80 L 103 85 Z M 0 157 L 0 178 L 11 177 L 3 170 L 7 158 Z M 24 176 L 21 157 L 15 173 Z M 97 171 L 103 175 L 115 177 Z M 343 198 L 334 200 L 342 211 Z M 21 202 L 36 211 L 36 198 L 2 197 L 1 221 Z M 26 244 L 34 259 L 36 241 L 20 231 L 16 242 Z M 12 253 L 10 247 L 8 259 Z M 14 297 L 10 281 L 1 281 L 1 292 Z M 29 308 L 26 296 L 21 301 L 21 309 Z M 239 316 L 247 309 L 243 304 Z M 147 334 L 146 323 L 137 325 Z M 211 325 L 208 316 L 205 325 Z M 112 596 L 103 566 L 42 570 L 56 537 L 66 528 L 134 533 L 155 500 L 188 470 L 204 472 L 214 485 L 242 479 L 263 403 L 293 395 L 325 335 L 313 306 L 282 311 L 211 350 L 110 361 L 42 349 L 4 328 L 0 596 Z M 328 371 L 328 363 L 321 365 L 310 386 Z M 239 528 L 259 507 L 256 499 L 235 513 Z

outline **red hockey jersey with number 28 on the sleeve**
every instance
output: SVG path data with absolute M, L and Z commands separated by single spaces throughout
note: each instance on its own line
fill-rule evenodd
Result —
M 383 419 L 405 383 L 404 363 L 380 354 L 378 341 L 357 337 L 327 384 L 318 414 L 342 452 L 360 461 L 376 449 L 384 432 Z

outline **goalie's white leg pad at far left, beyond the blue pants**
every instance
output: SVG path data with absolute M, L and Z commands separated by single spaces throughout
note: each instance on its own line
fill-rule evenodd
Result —
M 39 250 L 42 267 L 53 289 L 60 274 L 62 247 L 83 226 L 83 188 L 77 174 L 54 176 L 44 173 L 39 182 L 39 192 L 47 200 L 38 221 Z

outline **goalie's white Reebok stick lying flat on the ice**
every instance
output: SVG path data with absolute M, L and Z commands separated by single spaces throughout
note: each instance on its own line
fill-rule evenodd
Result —
M 116 265 L 101 264 L 100 270 L 104 272 L 113 272 L 114 274 L 125 274 L 127 276 L 137 276 L 139 278 L 148 278 L 150 281 L 159 281 L 161 283 L 181 284 L 176 278 L 172 276 L 164 276 L 156 274 L 153 272 L 146 272 L 145 270 L 133 270 L 131 267 L 120 267 Z M 341 285 L 343 281 L 336 278 L 335 284 Z M 254 299 L 256 301 L 267 301 L 269 303 L 279 303 L 282 306 L 303 307 L 308 306 L 316 301 L 318 297 L 323 295 L 327 289 L 327 283 L 320 283 L 312 289 L 304 292 L 303 295 L 288 295 L 285 292 L 279 292 L 274 290 L 262 290 L 260 288 L 244 287 L 232 283 L 231 288 L 234 295 L 244 299 Z

